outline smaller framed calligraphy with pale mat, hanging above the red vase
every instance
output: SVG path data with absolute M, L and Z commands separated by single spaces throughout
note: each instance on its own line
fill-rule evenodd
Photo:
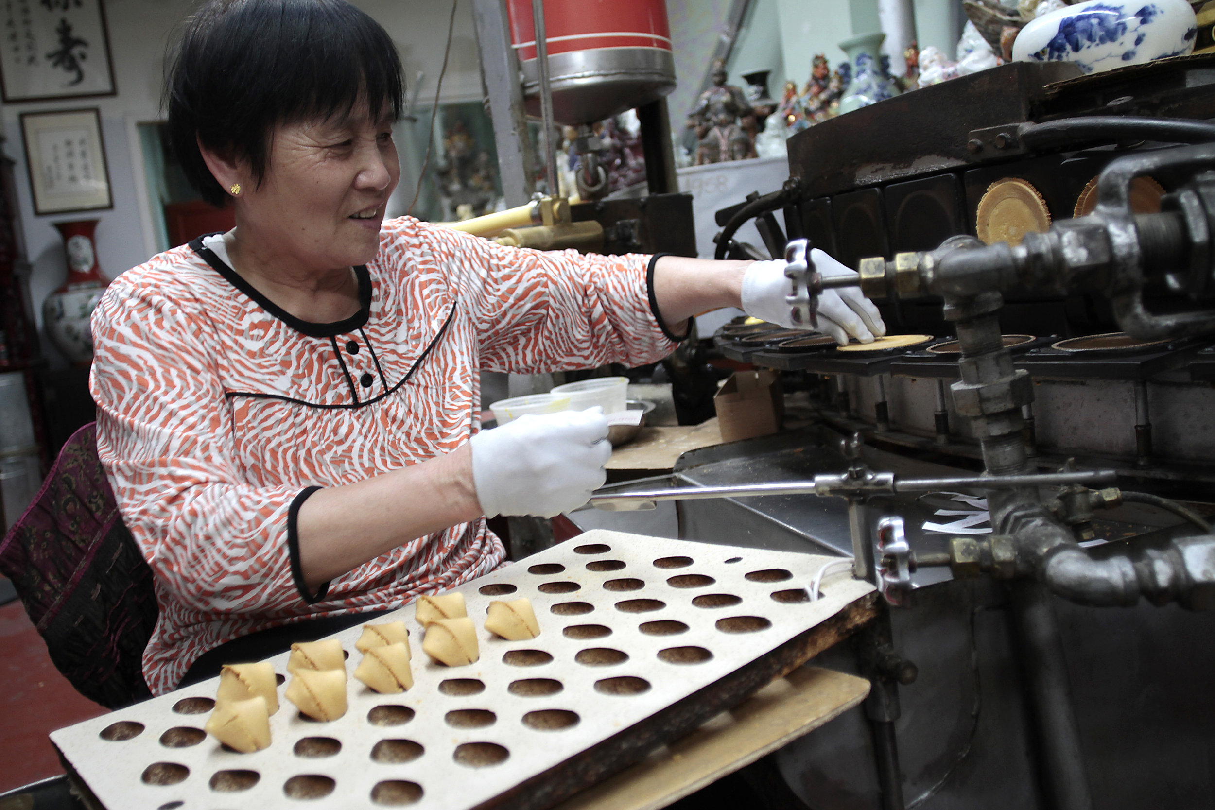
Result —
M 113 208 L 101 113 L 62 109 L 22 113 L 26 166 L 35 214 L 63 214 Z

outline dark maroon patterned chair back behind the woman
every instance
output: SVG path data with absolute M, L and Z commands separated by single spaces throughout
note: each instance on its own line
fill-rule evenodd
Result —
M 0 573 L 77 691 L 109 708 L 151 697 L 142 658 L 159 616 L 152 570 L 118 512 L 96 423 L 63 444 L 0 542 Z

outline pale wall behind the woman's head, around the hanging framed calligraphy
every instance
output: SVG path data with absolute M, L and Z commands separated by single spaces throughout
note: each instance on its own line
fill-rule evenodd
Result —
M 41 323 L 41 304 L 63 283 L 67 264 L 63 243 L 51 222 L 97 217 L 97 257 L 102 270 L 113 278 L 146 261 L 154 251 L 154 236 L 148 210 L 143 165 L 136 134 L 140 121 L 160 120 L 160 89 L 165 46 L 173 28 L 198 4 L 197 0 L 103 0 L 109 27 L 109 50 L 114 63 L 117 96 L 73 98 L 61 102 L 4 104 L 0 121 L 7 136 L 5 152 L 17 162 L 17 196 L 21 228 L 33 264 L 30 298 Z M 406 79 L 411 85 L 419 70 L 425 77 L 419 85 L 419 104 L 430 104 L 435 81 L 443 60 L 448 0 L 354 0 L 378 19 L 401 52 Z M 473 33 L 471 4 L 457 6 L 452 51 L 443 77 L 442 101 L 481 98 L 480 62 Z M 426 100 L 423 102 L 422 100 Z M 101 111 L 102 137 L 109 168 L 114 208 L 107 211 L 35 216 L 26 169 L 26 155 L 18 115 L 24 112 L 97 107 Z M 50 341 L 43 346 L 52 361 Z

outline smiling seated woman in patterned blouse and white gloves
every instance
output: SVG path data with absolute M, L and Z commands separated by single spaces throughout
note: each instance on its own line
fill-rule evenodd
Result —
M 604 418 L 477 432 L 481 370 L 638 366 L 696 312 L 787 310 L 780 262 L 546 254 L 385 222 L 401 64 L 343 0 L 213 0 L 168 98 L 187 176 L 237 226 L 123 273 L 92 321 L 98 453 L 157 582 L 153 693 L 337 629 L 270 628 L 350 624 L 493 570 L 485 515 L 586 503 Z M 853 334 L 881 333 L 852 306 Z

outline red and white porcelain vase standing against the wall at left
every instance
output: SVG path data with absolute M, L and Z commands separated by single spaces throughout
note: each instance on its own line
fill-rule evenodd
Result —
M 56 222 L 68 257 L 68 278 L 43 302 L 46 334 L 74 366 L 92 362 L 92 332 L 89 321 L 109 282 L 97 264 L 94 231 L 98 220 Z

